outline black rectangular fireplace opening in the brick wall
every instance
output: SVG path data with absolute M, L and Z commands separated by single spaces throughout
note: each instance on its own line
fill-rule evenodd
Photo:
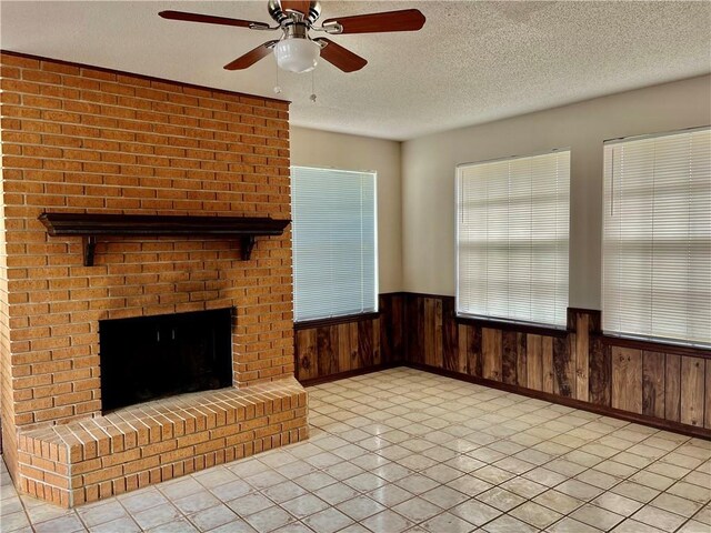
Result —
M 232 385 L 232 309 L 99 321 L 103 412 Z

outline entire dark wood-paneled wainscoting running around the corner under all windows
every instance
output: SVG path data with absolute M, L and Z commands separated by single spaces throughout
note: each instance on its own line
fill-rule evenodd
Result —
M 304 384 L 408 365 L 711 439 L 711 352 L 602 335 L 600 311 L 563 330 L 458 319 L 454 298 L 380 295 L 380 311 L 297 325 Z

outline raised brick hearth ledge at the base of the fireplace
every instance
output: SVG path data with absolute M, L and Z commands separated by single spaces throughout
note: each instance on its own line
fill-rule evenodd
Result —
M 71 507 L 308 438 L 293 378 L 20 430 L 19 487 Z

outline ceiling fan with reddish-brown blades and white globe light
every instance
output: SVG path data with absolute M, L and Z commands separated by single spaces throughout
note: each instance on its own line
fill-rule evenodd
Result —
M 227 70 L 247 69 L 273 50 L 279 67 L 291 72 L 313 70 L 319 57 L 343 72 L 353 72 L 365 67 L 368 61 L 330 39 L 324 37 L 312 39 L 309 32 L 323 31 L 329 34 L 340 34 L 417 31 L 424 26 L 424 16 L 417 9 L 328 19 L 320 27 L 314 26 L 321 16 L 321 3 L 318 0 L 269 0 L 268 9 L 277 26 L 184 11 L 161 11 L 158 14 L 171 20 L 233 26 L 250 30 L 282 31 L 280 39 L 267 41 L 226 64 Z

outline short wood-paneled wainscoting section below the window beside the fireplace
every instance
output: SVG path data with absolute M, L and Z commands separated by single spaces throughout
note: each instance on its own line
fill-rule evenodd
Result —
M 381 294 L 379 314 L 297 326 L 297 379 L 302 383 L 393 365 L 403 353 L 403 295 Z

